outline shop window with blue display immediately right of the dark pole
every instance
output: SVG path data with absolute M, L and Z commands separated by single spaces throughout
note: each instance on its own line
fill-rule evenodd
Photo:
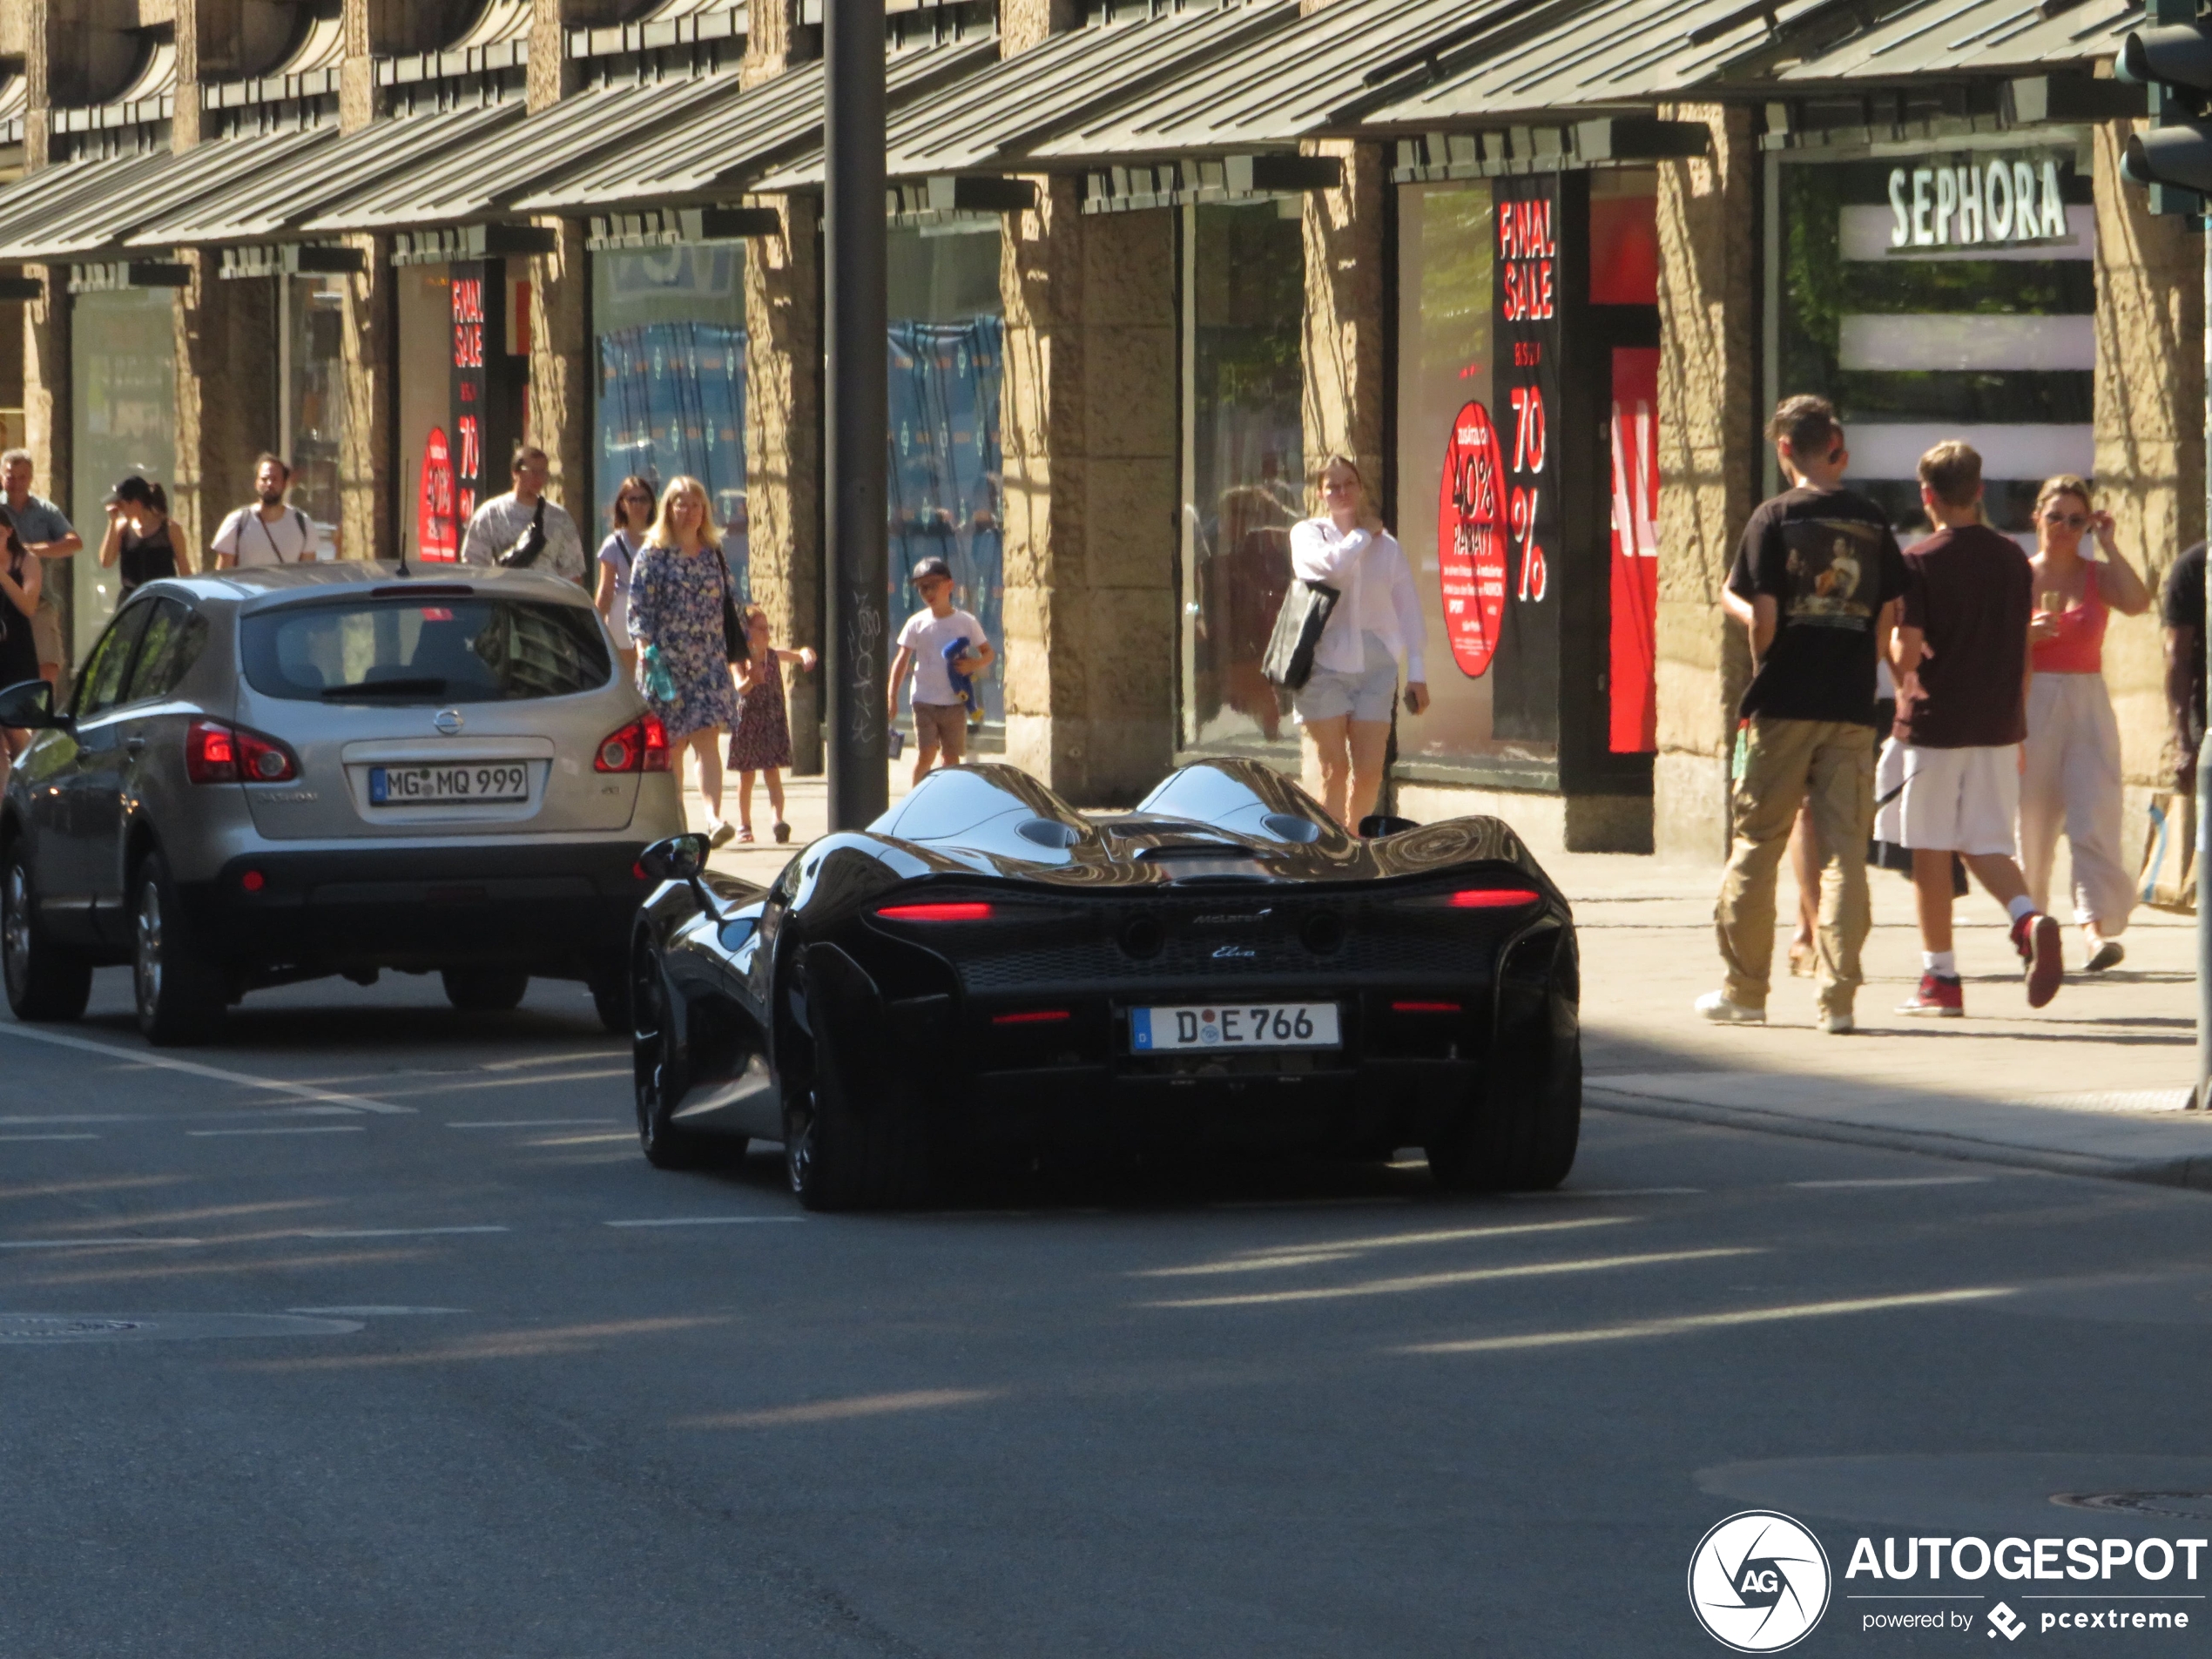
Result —
M 889 626 L 920 599 L 907 573 L 940 557 L 953 604 L 998 646 L 982 714 L 1006 719 L 1006 573 L 1000 520 L 1000 385 L 1006 325 L 998 219 L 889 234 Z

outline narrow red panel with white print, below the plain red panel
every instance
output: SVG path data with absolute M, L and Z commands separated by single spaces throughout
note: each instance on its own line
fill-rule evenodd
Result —
M 1615 754 L 1659 748 L 1659 352 L 1613 352 L 1613 650 L 1606 688 Z

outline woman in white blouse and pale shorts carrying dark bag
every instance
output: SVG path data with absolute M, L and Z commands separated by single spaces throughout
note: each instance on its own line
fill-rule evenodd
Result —
M 1321 761 L 1321 803 L 1338 823 L 1358 825 L 1383 794 L 1400 653 L 1407 712 L 1429 706 L 1420 599 L 1405 549 L 1367 509 L 1360 469 L 1345 456 L 1323 462 L 1321 504 L 1321 518 L 1290 533 L 1290 568 L 1301 582 L 1325 582 L 1343 597 L 1321 630 L 1314 675 L 1292 706 Z

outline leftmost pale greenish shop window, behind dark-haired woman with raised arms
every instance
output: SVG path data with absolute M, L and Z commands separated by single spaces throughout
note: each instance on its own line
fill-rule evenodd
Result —
M 73 661 L 84 661 L 115 613 L 117 575 L 102 571 L 100 502 L 126 473 L 177 482 L 177 296 L 124 288 L 71 301 L 75 409 L 69 518 L 84 538 L 75 564 Z

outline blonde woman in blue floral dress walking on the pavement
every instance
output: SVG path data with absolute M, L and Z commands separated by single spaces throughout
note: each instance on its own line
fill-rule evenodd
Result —
M 737 836 L 721 818 L 721 737 L 737 726 L 730 661 L 745 655 L 743 624 L 734 639 L 728 628 L 734 597 L 706 484 L 670 478 L 630 571 L 630 644 L 637 688 L 668 728 L 668 759 L 681 768 L 690 750 L 699 761 L 710 847 Z

